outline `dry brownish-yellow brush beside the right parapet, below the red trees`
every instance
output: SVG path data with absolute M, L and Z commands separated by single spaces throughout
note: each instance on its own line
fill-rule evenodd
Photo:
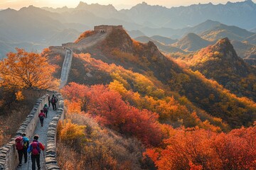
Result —
M 86 115 L 70 115 L 73 123 L 86 125 L 80 146 L 58 141 L 58 164 L 61 169 L 142 169 L 144 148 L 135 139 L 100 127 Z

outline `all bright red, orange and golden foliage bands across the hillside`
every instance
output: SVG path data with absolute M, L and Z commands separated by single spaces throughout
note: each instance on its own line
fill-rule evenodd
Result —
M 179 96 L 177 100 L 175 94 L 161 89 L 158 81 L 94 60 L 88 55 L 78 57 L 102 71 L 110 72 L 113 81 L 108 86 L 85 86 L 74 82 L 65 86 L 61 92 L 66 98 L 70 115 L 80 113 L 81 118 L 89 116 L 102 128 L 110 128 L 125 137 L 136 137 L 147 148 L 144 162 L 153 161 L 158 169 L 254 169 L 256 152 L 250 146 L 255 147 L 252 142 L 255 127 L 224 133 L 222 130 L 228 131 L 229 128 L 221 118 L 211 117 L 191 106 L 185 96 Z M 176 76 L 179 77 L 175 80 L 177 82 L 191 81 L 186 74 Z M 202 75 L 198 77 L 209 86 L 221 89 L 221 94 L 229 99 L 254 106 L 252 101 L 225 91 L 217 82 L 208 81 Z M 209 94 L 209 104 L 215 98 L 215 94 Z M 230 102 L 235 103 L 233 100 Z M 88 139 L 85 137 L 85 140 Z M 96 148 L 93 153 L 90 152 L 92 157 L 105 155 L 102 150 L 105 147 Z M 83 159 L 90 162 L 88 158 Z M 104 157 L 102 164 L 117 167 L 110 159 Z M 98 168 L 104 169 L 102 166 Z

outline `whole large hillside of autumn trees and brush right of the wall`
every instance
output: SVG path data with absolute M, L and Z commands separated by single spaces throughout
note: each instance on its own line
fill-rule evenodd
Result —
M 249 147 L 245 139 L 255 137 L 254 101 L 235 96 L 199 71 L 180 67 L 162 55 L 153 42 L 143 44 L 132 40 L 125 30 L 112 30 L 97 44 L 83 48 L 82 42 L 87 42 L 91 36 L 96 37 L 97 33 L 83 33 L 73 43 L 75 54 L 68 78 L 70 84 L 62 90 L 70 118 L 59 128 L 58 152 L 63 168 L 122 169 L 123 164 L 128 169 L 225 169 L 233 166 L 243 169 L 254 166 L 253 149 L 235 163 L 231 163 L 229 155 L 220 154 L 223 151 L 216 149 L 220 143 L 222 149 L 228 148 L 225 146 L 228 143 L 222 142 L 226 138 L 233 144 L 228 148 L 233 150 L 233 157 L 239 157 L 235 150 L 241 143 Z M 223 52 L 221 49 L 221 45 L 215 48 Z M 54 49 L 46 53 L 56 58 Z M 58 58 L 62 60 L 61 55 Z M 61 62 L 55 64 L 61 67 Z M 96 121 L 96 124 L 88 121 Z M 65 137 L 70 132 L 73 135 Z M 95 136 L 95 132 L 100 135 Z M 117 156 L 112 144 L 106 144 L 103 136 L 112 144 L 119 139 L 118 147 L 122 154 L 127 153 L 126 162 L 122 162 L 124 156 Z M 138 143 L 132 145 L 134 139 Z M 238 140 L 240 143 L 236 142 Z M 196 145 L 191 146 L 191 142 Z M 74 143 L 84 149 L 80 151 Z M 124 145 L 130 146 L 129 149 L 123 148 Z M 188 153 L 181 152 L 183 149 Z M 189 154 L 192 149 L 198 152 Z M 106 155 L 106 150 L 111 154 Z M 68 161 L 63 155 L 69 151 L 72 154 Z M 166 154 L 169 152 L 174 154 L 171 159 Z M 85 153 L 91 153 L 91 157 Z M 134 153 L 140 156 L 129 156 Z M 180 159 L 178 153 L 183 154 L 183 162 L 176 162 Z M 85 162 L 75 161 L 75 157 Z M 170 160 L 169 164 L 166 159 Z M 212 162 L 215 164 L 210 165 Z

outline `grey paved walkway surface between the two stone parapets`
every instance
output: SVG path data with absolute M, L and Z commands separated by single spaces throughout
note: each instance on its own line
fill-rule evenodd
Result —
M 53 111 L 52 106 L 50 106 L 48 111 L 48 118 L 45 118 L 43 121 L 43 127 L 41 127 L 41 123 L 38 120 L 38 125 L 36 126 L 36 130 L 34 132 L 34 135 L 39 135 L 39 142 L 42 142 L 43 145 L 45 145 L 45 151 L 46 152 L 46 143 L 47 143 L 47 132 L 48 132 L 48 126 L 50 121 L 53 119 L 53 117 L 56 115 L 57 111 Z M 30 142 L 33 140 L 33 137 L 30 139 Z M 41 170 L 45 170 L 45 159 L 43 157 L 43 152 L 41 152 L 40 155 L 40 165 Z M 24 164 L 24 158 L 22 159 L 22 166 L 18 166 L 17 170 L 31 170 L 32 169 L 32 163 L 31 163 L 31 157 L 28 157 L 28 162 Z M 36 166 L 37 169 L 37 166 Z

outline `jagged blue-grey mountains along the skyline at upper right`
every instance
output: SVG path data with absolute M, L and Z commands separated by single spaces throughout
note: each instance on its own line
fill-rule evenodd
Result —
M 120 12 L 132 18 L 136 23 L 141 25 L 151 23 L 151 27 L 155 26 L 156 28 L 159 26 L 164 28 L 196 26 L 207 19 L 247 29 L 255 28 L 256 25 L 256 18 L 252 17 L 256 16 L 256 4 L 251 0 L 173 8 L 150 6 L 143 2 L 131 9 L 121 10 Z

